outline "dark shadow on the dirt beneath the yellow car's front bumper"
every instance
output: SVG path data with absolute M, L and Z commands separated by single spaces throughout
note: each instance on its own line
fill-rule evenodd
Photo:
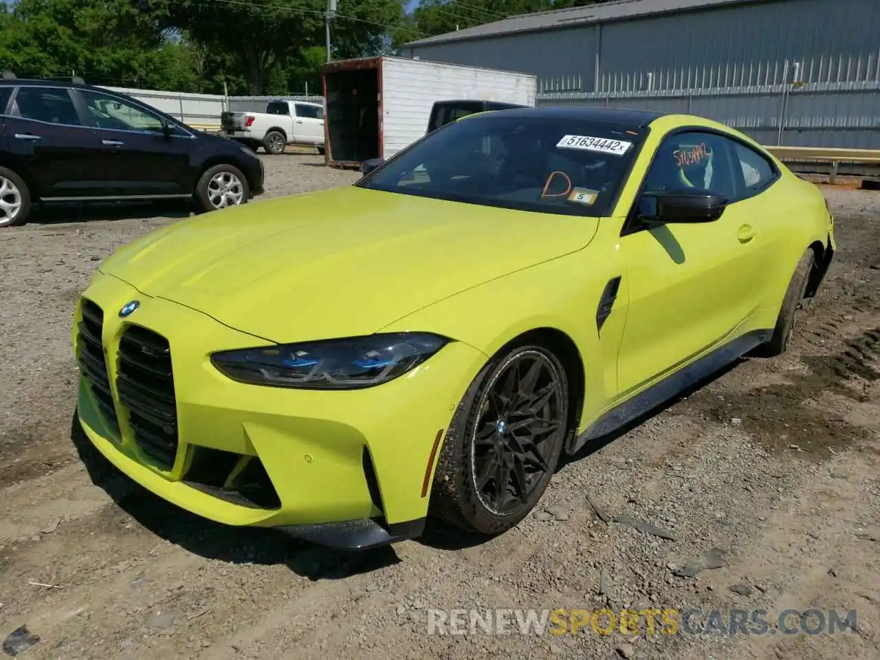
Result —
M 89 477 L 129 516 L 161 539 L 206 559 L 235 564 L 284 564 L 312 581 L 338 580 L 400 562 L 392 546 L 343 552 L 292 539 L 282 532 L 215 523 L 153 495 L 113 466 L 73 415 L 70 439 Z

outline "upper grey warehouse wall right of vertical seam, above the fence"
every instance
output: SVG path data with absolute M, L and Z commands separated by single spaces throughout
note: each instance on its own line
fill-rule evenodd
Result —
M 599 61 L 598 87 L 583 92 L 876 81 L 880 0 L 784 0 L 612 23 Z

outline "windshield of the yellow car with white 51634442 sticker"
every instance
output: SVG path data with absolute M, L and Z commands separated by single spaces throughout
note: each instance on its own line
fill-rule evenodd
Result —
M 644 133 L 568 118 L 475 116 L 430 134 L 356 185 L 507 209 L 607 216 Z

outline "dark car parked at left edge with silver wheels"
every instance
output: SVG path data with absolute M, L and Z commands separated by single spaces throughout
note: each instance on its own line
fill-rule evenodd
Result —
M 0 227 L 41 202 L 192 200 L 209 211 L 263 192 L 253 151 L 81 80 L 0 79 Z

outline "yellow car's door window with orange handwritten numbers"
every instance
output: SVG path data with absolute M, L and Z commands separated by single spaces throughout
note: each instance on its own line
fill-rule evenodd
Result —
M 665 138 L 651 162 L 645 191 L 694 188 L 736 199 L 731 145 L 732 141 L 714 133 L 679 133 Z

